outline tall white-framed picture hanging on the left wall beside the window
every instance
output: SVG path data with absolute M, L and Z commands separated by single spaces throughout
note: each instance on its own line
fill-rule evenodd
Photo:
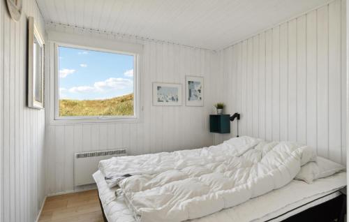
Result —
M 28 106 L 44 108 L 44 42 L 34 17 L 28 22 Z

